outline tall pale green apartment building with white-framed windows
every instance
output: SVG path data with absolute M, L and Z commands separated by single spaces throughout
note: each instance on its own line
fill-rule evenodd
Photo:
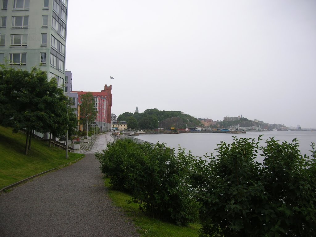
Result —
M 40 67 L 64 87 L 68 0 L 0 0 L 0 64 Z

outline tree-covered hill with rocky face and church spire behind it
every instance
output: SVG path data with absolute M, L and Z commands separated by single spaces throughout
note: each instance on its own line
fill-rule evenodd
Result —
M 184 128 L 186 125 L 203 126 L 203 124 L 191 115 L 184 114 L 181 111 L 165 111 L 158 109 L 146 109 L 143 113 L 125 112 L 119 115 L 118 120 L 126 121 L 127 127 L 131 129 L 170 129 Z M 158 124 L 159 123 L 159 124 Z

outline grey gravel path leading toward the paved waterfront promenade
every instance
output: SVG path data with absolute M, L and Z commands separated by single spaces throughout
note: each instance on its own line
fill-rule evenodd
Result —
M 93 153 L 108 140 L 100 135 L 82 160 L 0 195 L 0 236 L 139 236 L 103 185 Z

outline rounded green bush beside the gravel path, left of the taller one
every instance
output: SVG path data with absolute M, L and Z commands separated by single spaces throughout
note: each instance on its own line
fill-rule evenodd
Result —
M 197 218 L 190 173 L 195 157 L 157 143 L 136 144 L 129 139 L 109 143 L 96 153 L 101 169 L 115 189 L 131 194 L 140 210 L 165 221 L 187 225 Z

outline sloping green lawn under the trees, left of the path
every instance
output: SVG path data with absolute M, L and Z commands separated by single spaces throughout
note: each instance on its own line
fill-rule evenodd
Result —
M 0 189 L 83 156 L 69 152 L 66 159 L 66 151 L 35 138 L 25 155 L 25 141 L 26 134 L 12 133 L 11 128 L 0 126 Z

